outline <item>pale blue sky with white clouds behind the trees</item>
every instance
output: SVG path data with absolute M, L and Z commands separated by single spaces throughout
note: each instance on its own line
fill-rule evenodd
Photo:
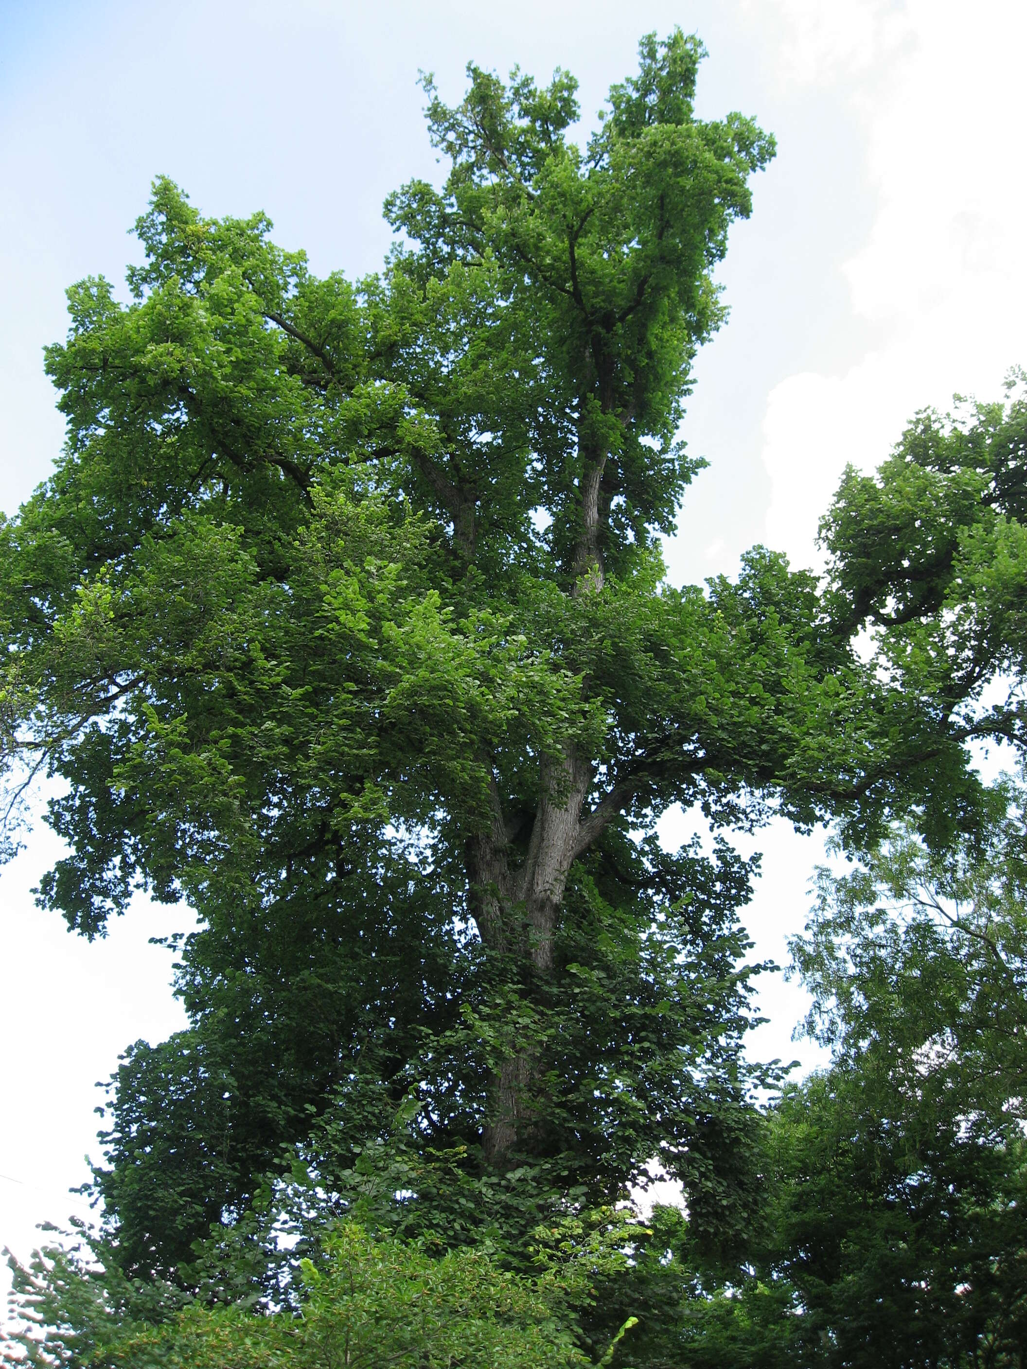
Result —
M 457 100 L 472 59 L 581 81 L 583 134 L 638 37 L 675 25 L 709 57 L 698 112 L 741 110 L 778 138 L 731 233 L 727 326 L 696 364 L 683 435 L 709 467 L 667 545 L 675 582 L 734 574 L 764 542 L 820 567 L 817 519 L 848 461 L 872 470 L 902 424 L 953 393 L 996 398 L 1027 364 L 1027 182 L 1013 0 L 0 0 L 0 509 L 45 479 L 62 419 L 41 349 L 66 333 L 64 287 L 122 282 L 151 179 L 207 214 L 266 209 L 315 272 L 374 270 L 385 194 L 438 167 L 418 71 Z M 668 841 L 687 827 L 670 815 Z M 787 960 L 820 836 L 759 835 L 748 924 Z M 153 936 L 186 909 L 140 901 L 110 936 L 70 936 L 31 888 L 59 854 L 45 827 L 0 872 L 0 1246 L 88 1216 L 94 1088 L 121 1050 L 183 1025 Z M 756 1053 L 816 1064 L 793 1042 L 804 998 L 772 976 Z

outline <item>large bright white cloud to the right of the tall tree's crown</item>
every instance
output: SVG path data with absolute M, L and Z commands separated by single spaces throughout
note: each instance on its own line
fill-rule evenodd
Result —
M 1016 164 L 1027 11 L 985 3 L 968 22 L 938 0 L 781 10 L 793 78 L 846 82 L 876 192 L 844 266 L 853 324 L 871 326 L 872 346 L 839 375 L 789 376 L 767 402 L 768 541 L 808 564 L 846 461 L 872 470 L 917 408 L 945 408 L 954 392 L 993 398 L 1027 359 Z

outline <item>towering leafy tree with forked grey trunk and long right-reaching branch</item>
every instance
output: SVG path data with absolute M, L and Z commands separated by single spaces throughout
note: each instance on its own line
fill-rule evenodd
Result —
M 694 116 L 700 57 L 644 40 L 583 148 L 566 73 L 429 82 L 448 175 L 389 199 L 379 275 L 159 181 L 129 303 L 68 292 L 64 453 L 0 524 L 0 735 L 10 815 L 26 768 L 63 786 L 45 908 L 200 917 L 190 1027 L 127 1051 L 96 1175 L 104 1261 L 167 1307 L 233 1269 L 299 1296 L 275 1223 L 316 1262 L 357 1195 L 529 1277 L 540 1223 L 656 1158 L 689 1258 L 737 1262 L 775 1077 L 742 1055 L 753 862 L 657 820 L 905 821 L 942 860 L 1009 812 L 968 743 L 1024 741 L 1016 394 L 849 471 L 823 585 L 764 549 L 665 579 L 713 271 L 774 152 Z

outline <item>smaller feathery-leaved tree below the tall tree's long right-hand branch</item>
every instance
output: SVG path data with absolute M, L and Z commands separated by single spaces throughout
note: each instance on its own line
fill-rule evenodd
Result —
M 835 1062 L 782 1103 L 776 1239 L 828 1364 L 1023 1362 L 1023 794 L 1009 801 L 983 849 L 933 857 L 905 831 L 852 875 L 823 872 L 794 943 Z

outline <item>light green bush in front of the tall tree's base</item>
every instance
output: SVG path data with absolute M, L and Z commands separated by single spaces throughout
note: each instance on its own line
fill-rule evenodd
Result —
M 104 1288 L 85 1316 L 79 1309 L 81 1329 L 58 1357 L 67 1365 L 110 1369 L 452 1364 L 572 1369 L 590 1364 L 575 1346 L 574 1307 L 589 1301 L 590 1280 L 618 1255 L 603 1232 L 578 1228 L 563 1235 L 546 1268 L 527 1277 L 505 1273 L 487 1255 L 466 1249 L 433 1258 L 415 1246 L 372 1240 L 348 1221 L 327 1233 L 320 1268 L 303 1265 L 300 1318 L 193 1305 L 164 1325 L 126 1324 Z M 630 1329 L 629 1321 L 620 1336 Z

